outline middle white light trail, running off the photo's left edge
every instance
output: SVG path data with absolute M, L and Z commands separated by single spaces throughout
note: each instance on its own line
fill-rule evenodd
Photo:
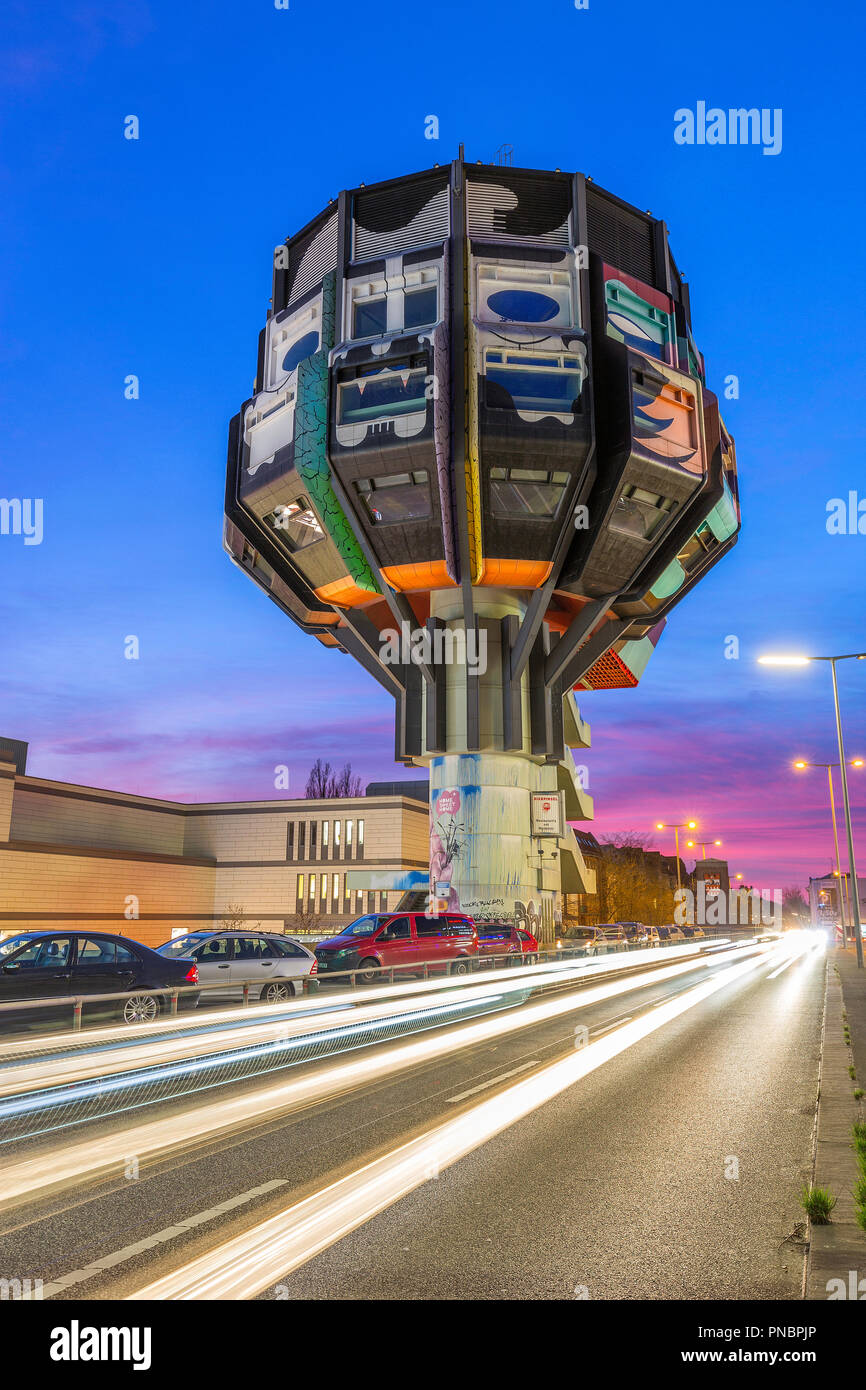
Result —
M 758 955 L 763 962 L 770 949 L 759 945 L 740 947 L 726 959 Z M 246 1130 L 449 1052 L 530 1029 L 648 984 L 676 979 L 694 970 L 695 966 L 708 969 L 717 967 L 719 963 L 719 956 L 691 958 L 662 969 L 591 986 L 580 992 L 553 995 L 527 1004 L 514 1013 L 498 1013 L 480 1022 L 456 1024 L 448 1033 L 379 1048 L 329 1068 L 295 1074 L 267 1088 L 247 1090 L 240 1095 L 190 1108 L 181 1115 L 147 1120 L 100 1138 L 44 1150 L 32 1158 L 0 1166 L 0 1208 L 10 1208 L 36 1195 L 57 1191 L 85 1177 L 121 1175 L 129 1154 L 135 1154 L 139 1162 L 156 1156 L 165 1158 L 203 1140 L 225 1137 L 238 1129 Z

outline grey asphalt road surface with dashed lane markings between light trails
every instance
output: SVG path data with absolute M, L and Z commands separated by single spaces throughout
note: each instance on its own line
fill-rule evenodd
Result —
M 666 1023 L 261 1297 L 799 1297 L 802 1245 L 791 1237 L 810 1169 L 824 966 L 810 956 L 767 979 L 771 969 Z M 65 1297 L 135 1293 L 573 1052 L 575 1023 L 591 1038 L 614 1033 L 703 979 L 696 970 L 653 983 L 243 1136 L 204 1140 L 143 1163 L 138 1177 L 18 1208 L 0 1218 L 0 1277 L 39 1277 L 50 1291 L 51 1280 L 88 1270 Z M 738 1177 L 726 1176 L 733 1159 Z

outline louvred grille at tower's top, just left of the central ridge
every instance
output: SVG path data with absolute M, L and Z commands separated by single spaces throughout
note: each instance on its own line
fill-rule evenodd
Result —
M 353 260 L 375 260 L 443 242 L 450 225 L 448 172 L 356 193 L 352 213 Z

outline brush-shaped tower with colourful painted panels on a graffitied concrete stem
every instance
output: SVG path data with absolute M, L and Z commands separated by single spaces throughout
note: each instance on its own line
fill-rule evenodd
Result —
M 738 528 L 663 221 L 461 150 L 275 247 L 225 548 L 393 696 L 396 759 L 430 767 L 432 910 L 549 938 L 594 891 L 575 695 L 638 684 Z

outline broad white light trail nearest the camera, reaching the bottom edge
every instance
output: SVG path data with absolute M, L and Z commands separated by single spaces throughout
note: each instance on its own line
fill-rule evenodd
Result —
M 254 1297 L 605 1062 L 719 990 L 755 973 L 763 962 L 765 956 L 759 956 L 727 966 L 663 1006 L 624 1023 L 616 1033 L 548 1063 L 499 1095 L 481 1101 L 322 1191 L 295 1202 L 242 1236 L 146 1284 L 129 1298 L 188 1301 Z

